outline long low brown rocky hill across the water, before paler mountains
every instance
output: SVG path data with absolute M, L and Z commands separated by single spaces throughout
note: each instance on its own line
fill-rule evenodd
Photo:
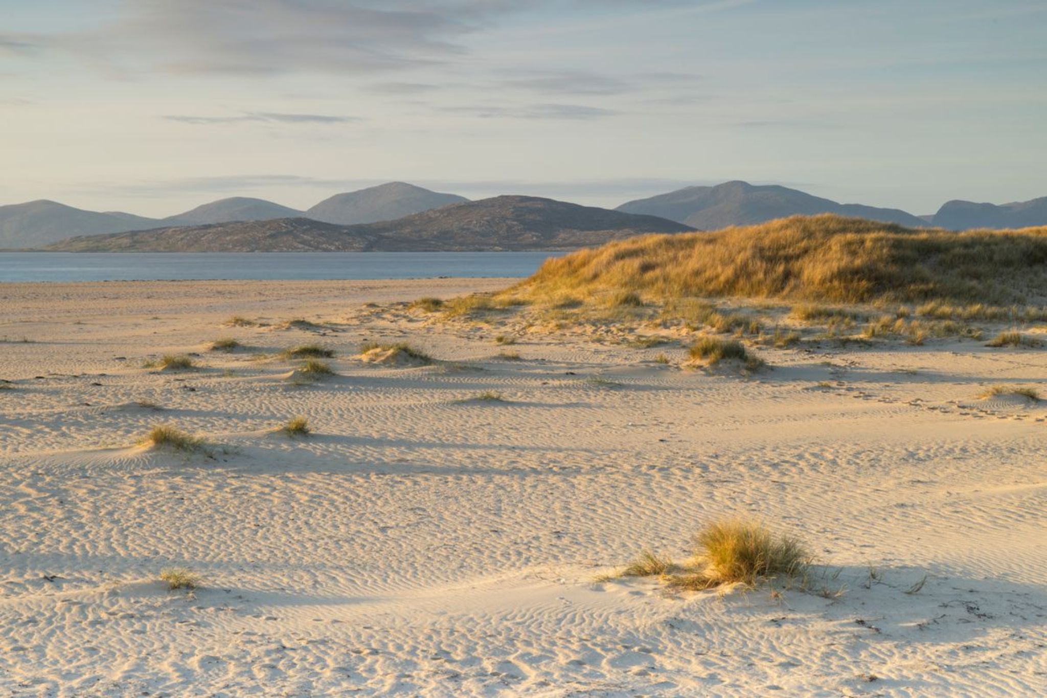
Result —
M 310 219 L 168 227 L 80 237 L 47 247 L 71 252 L 274 252 L 563 250 L 685 225 L 650 216 L 539 199 L 495 197 L 396 221 L 338 226 Z

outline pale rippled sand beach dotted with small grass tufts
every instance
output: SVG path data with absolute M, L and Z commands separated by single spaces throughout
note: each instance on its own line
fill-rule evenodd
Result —
M 1047 353 L 800 345 L 747 378 L 404 305 L 509 283 L 0 285 L 0 691 L 1047 694 L 1047 403 L 979 398 Z M 314 342 L 335 375 L 289 380 Z M 809 587 L 595 581 L 725 515 L 806 541 Z

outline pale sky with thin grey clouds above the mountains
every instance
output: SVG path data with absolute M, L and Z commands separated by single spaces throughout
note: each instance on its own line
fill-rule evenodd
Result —
M 0 0 L 0 204 L 1047 196 L 1044 0 Z

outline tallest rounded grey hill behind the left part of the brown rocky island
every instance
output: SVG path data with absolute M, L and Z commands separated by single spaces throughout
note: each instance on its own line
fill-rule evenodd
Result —
M 358 192 L 336 194 L 307 210 L 306 216 L 326 223 L 355 225 L 392 221 L 465 201 L 468 199 L 453 194 L 430 192 L 404 182 L 389 182 Z

